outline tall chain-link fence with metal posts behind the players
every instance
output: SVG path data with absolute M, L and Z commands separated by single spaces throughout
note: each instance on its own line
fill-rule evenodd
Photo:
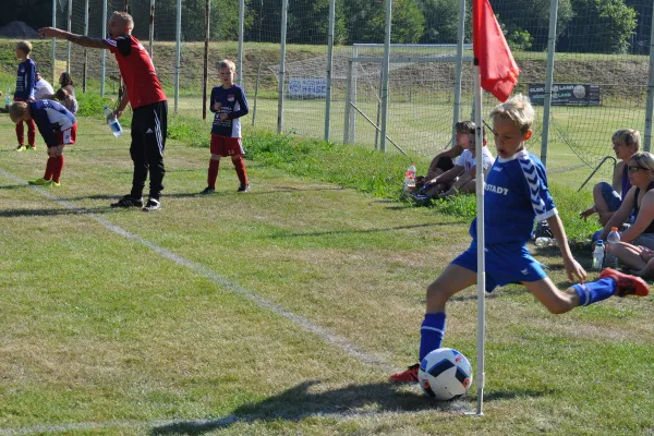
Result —
M 101 0 L 55 1 L 58 27 L 66 28 L 70 16 L 72 32 L 83 34 L 87 29 L 90 36 L 101 36 Z M 109 15 L 126 8 L 135 19 L 134 35 L 146 46 L 155 5 L 152 36 L 158 74 L 169 97 L 178 97 L 181 114 L 202 117 L 206 1 L 107 2 Z M 251 106 L 244 124 L 281 128 L 286 133 L 318 138 L 328 135 L 330 141 L 377 148 L 384 131 L 389 153 L 401 149 L 434 155 L 449 145 L 456 119 L 471 117 L 472 53 L 463 45 L 471 40 L 470 5 L 460 0 L 393 0 L 385 82 L 388 3 L 249 0 L 242 4 L 245 12 L 241 23 L 239 0 L 211 1 L 209 90 L 218 84 L 217 62 L 226 57 L 237 60 L 240 55 L 239 80 Z M 492 5 L 521 69 L 516 92 L 529 95 L 536 105 L 540 119 L 530 142 L 536 155 L 541 153 L 546 85 L 552 80 L 549 124 L 545 130 L 549 171 L 588 174 L 603 157 L 611 155 L 610 136 L 620 128 L 638 129 L 649 142 L 651 125 L 645 125 L 645 113 L 652 0 L 504 0 Z M 554 15 L 555 26 L 550 25 Z M 334 52 L 328 71 L 330 40 Z M 548 51 L 554 53 L 550 62 Z M 97 89 L 101 76 L 99 52 L 88 50 L 85 57 L 84 48 L 78 46 L 71 47 L 70 52 L 68 66 L 66 44 L 57 44 L 56 71 L 70 69 L 78 85 L 86 65 L 89 87 Z M 462 59 L 460 70 L 458 58 Z M 179 92 L 171 90 L 175 73 L 180 76 Z M 106 92 L 116 93 L 118 84 L 117 64 L 107 56 Z M 331 97 L 328 122 L 327 93 Z M 494 104 L 486 95 L 484 107 L 491 109 Z M 383 125 L 386 107 L 387 122 Z M 604 175 L 608 171 L 605 168 Z

